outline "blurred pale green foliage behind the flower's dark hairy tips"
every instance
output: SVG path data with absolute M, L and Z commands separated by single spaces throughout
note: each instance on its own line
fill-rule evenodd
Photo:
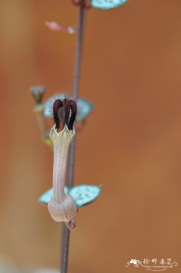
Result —
M 47 101 L 44 103 L 44 116 L 47 118 L 52 117 L 52 106 L 54 100 L 65 97 L 68 97 L 68 95 L 64 93 L 59 93 L 47 99 Z M 77 121 L 83 122 L 89 115 L 89 113 L 92 112 L 93 104 L 89 100 L 83 98 L 78 98 L 76 101 L 78 105 Z

